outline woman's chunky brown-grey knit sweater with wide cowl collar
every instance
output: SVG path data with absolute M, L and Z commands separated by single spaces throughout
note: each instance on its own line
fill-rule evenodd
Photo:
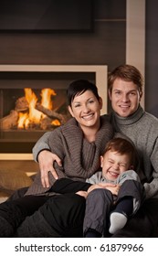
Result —
M 43 138 L 35 145 L 33 152 L 40 152 L 41 149 L 49 148 L 51 152 L 57 154 L 63 166 L 55 166 L 59 177 L 69 177 L 71 179 L 86 180 L 100 168 L 100 155 L 103 154 L 105 145 L 113 137 L 111 123 L 106 116 L 100 117 L 100 130 L 97 133 L 95 142 L 89 143 L 83 136 L 77 121 L 71 118 L 68 123 L 56 128 L 53 132 L 47 133 L 47 145 L 43 144 Z M 50 186 L 55 179 L 49 174 Z M 42 187 L 40 174 L 26 195 L 39 195 L 47 192 L 47 188 Z

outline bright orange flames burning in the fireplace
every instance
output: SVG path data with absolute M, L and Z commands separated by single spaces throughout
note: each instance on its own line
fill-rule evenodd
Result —
M 41 91 L 41 105 L 48 110 L 52 110 L 53 102 L 51 96 L 56 95 L 56 92 L 52 89 L 45 88 Z M 42 119 L 46 117 L 42 112 L 37 111 L 37 96 L 31 88 L 25 88 L 25 97 L 28 103 L 28 112 L 19 112 L 18 124 L 19 129 L 27 129 L 31 125 L 38 124 Z M 54 124 L 54 123 L 53 123 Z

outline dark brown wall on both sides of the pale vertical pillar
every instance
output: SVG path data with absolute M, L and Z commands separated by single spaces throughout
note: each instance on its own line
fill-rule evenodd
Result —
M 157 10 L 157 0 L 146 0 L 145 109 L 158 117 Z M 125 63 L 125 40 L 126 1 L 93 0 L 90 32 L 1 31 L 0 64 L 105 64 L 111 70 Z

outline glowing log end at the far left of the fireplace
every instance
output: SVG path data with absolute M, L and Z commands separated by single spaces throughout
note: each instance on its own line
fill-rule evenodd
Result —
M 18 112 L 11 111 L 10 114 L 6 115 L 0 120 L 0 127 L 7 130 L 13 128 L 18 120 Z

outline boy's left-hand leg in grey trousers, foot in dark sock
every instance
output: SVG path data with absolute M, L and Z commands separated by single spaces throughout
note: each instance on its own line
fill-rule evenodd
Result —
M 83 225 L 85 237 L 107 236 L 109 213 L 113 202 L 112 194 L 107 189 L 94 189 L 86 199 L 86 212 Z

